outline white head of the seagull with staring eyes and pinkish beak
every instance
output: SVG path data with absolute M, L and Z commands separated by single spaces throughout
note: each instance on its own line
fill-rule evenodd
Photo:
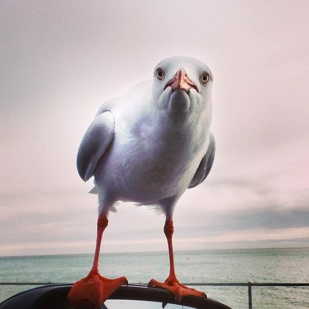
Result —
M 154 69 L 152 95 L 157 107 L 177 120 L 211 117 L 213 76 L 201 61 L 190 57 L 171 57 Z

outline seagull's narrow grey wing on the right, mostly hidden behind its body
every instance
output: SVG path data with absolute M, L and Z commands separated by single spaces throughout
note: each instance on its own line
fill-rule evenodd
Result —
M 208 149 L 189 184 L 188 187 L 189 189 L 198 186 L 206 179 L 211 170 L 213 160 L 215 158 L 215 152 L 216 152 L 216 141 L 215 137 L 210 132 Z

